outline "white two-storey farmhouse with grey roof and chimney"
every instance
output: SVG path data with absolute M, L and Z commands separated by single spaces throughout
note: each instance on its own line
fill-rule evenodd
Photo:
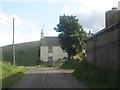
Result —
M 43 31 L 41 31 L 41 61 L 52 62 L 67 56 L 68 54 L 61 48 L 58 37 L 44 37 Z

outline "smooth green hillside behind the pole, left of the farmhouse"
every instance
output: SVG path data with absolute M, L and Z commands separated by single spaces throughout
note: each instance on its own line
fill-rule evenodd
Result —
M 15 44 L 16 64 L 32 66 L 39 60 L 40 41 Z M 13 62 L 12 45 L 2 47 L 3 61 Z

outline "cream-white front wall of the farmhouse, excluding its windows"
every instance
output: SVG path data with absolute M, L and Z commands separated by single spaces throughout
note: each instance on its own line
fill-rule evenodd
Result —
M 48 61 L 48 57 L 53 57 L 53 61 L 57 61 L 59 58 L 68 57 L 67 53 L 63 53 L 60 46 L 53 47 L 53 53 L 48 53 L 48 47 L 41 47 L 41 60 Z

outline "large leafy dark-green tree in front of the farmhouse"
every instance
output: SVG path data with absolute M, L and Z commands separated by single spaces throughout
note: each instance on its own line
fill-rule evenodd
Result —
M 73 57 L 85 48 L 85 39 L 87 33 L 78 23 L 76 16 L 60 16 L 59 24 L 54 28 L 56 32 L 60 32 L 60 44 L 63 50 L 68 52 L 68 56 Z

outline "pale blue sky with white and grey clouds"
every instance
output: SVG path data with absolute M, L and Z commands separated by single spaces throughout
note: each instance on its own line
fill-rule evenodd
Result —
M 105 12 L 118 7 L 118 2 L 119 0 L 0 0 L 0 46 L 12 44 L 13 17 L 15 43 L 40 40 L 43 25 L 45 36 L 57 36 L 58 33 L 53 28 L 63 14 L 76 15 L 84 30 L 96 33 L 105 27 Z

